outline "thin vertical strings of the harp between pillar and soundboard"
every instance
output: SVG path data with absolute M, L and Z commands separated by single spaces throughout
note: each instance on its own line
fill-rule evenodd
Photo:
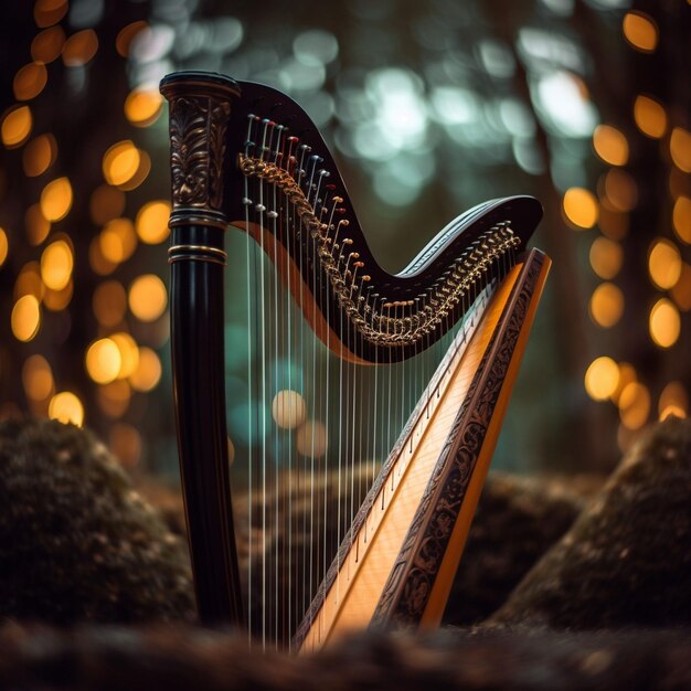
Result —
M 313 216 L 328 228 L 339 275 L 350 278 L 348 299 L 361 313 L 380 315 L 385 337 L 404 336 L 415 315 L 438 307 L 437 288 L 460 275 L 455 265 L 415 299 L 389 301 L 368 285 L 359 255 L 351 252 L 343 200 L 320 168 L 320 157 L 285 127 L 254 115 L 247 119 L 244 156 L 281 169 L 299 184 Z M 249 636 L 264 647 L 290 646 L 343 539 L 354 550 L 369 539 L 366 518 L 360 533 L 350 527 L 411 413 L 417 408 L 422 421 L 430 418 L 448 376 L 437 366 L 451 344 L 465 342 L 474 323 L 470 307 L 481 309 L 488 283 L 485 267 L 485 276 L 478 274 L 460 293 L 466 319 L 450 328 L 447 311 L 442 318 L 445 334 L 433 343 L 432 332 L 423 332 L 414 341 L 413 357 L 396 362 L 392 349 L 382 347 L 374 350 L 373 364 L 357 364 L 344 357 L 343 338 L 333 343 L 326 329 L 322 342 L 305 317 L 330 289 L 332 275 L 321 266 L 318 237 L 291 194 L 265 177 L 244 176 L 247 432 L 244 458 L 238 455 L 233 472 L 245 476 L 247 492 Z M 510 255 L 510 246 L 498 255 L 500 274 L 512 263 Z M 330 300 L 323 305 L 326 323 L 336 317 L 352 353 L 362 355 L 365 332 L 343 307 L 331 315 Z M 418 424 L 405 437 L 381 509 L 423 430 Z M 334 586 L 340 588 L 338 580 Z

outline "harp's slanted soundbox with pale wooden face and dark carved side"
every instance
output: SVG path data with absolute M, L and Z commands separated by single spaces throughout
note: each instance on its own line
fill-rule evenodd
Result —
M 544 255 L 533 252 L 524 265 L 514 267 L 467 348 L 451 359 L 439 397 L 430 396 L 434 405 L 429 417 L 419 414 L 408 432 L 414 444 L 400 445 L 398 455 L 384 467 L 383 481 L 374 486 L 369 498 L 368 515 L 359 530 L 347 536 L 339 553 L 336 577 L 328 592 L 317 596 L 298 631 L 302 651 L 365 628 L 373 619 L 379 624 L 419 624 L 437 572 L 442 578 L 432 603 L 438 609 L 445 602 L 518 369 L 520 358 L 513 355 L 524 347 L 548 264 Z M 506 375 L 509 381 L 502 386 Z M 471 410 L 488 397 L 490 404 L 482 401 Z M 481 418 L 481 434 L 474 416 Z M 469 442 L 475 442 L 472 448 Z M 476 464 L 477 477 L 469 485 Z M 453 501 L 450 495 L 457 495 Z M 428 552 L 430 532 L 440 550 L 436 559 Z M 446 538 L 445 545 L 442 538 Z M 451 552 L 445 561 L 449 542 Z M 421 565 L 427 571 L 421 571 Z M 424 596 L 422 573 L 427 580 Z M 401 606 L 407 617 L 397 612 Z M 440 617 L 440 612 L 435 617 Z

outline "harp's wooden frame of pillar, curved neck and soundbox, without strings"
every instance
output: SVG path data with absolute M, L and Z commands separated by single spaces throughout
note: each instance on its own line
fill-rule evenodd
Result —
M 481 204 L 444 228 L 401 274 L 391 275 L 372 256 L 336 163 L 299 106 L 269 87 L 206 73 L 170 75 L 161 91 L 171 117 L 169 261 L 178 438 L 202 620 L 253 619 L 237 567 L 223 389 L 224 235 L 235 226 L 262 255 L 253 258 L 263 281 L 255 299 L 262 310 L 267 302 L 275 315 L 276 328 L 267 332 L 278 333 L 280 312 L 288 342 L 295 340 L 295 309 L 296 319 L 309 325 L 322 350 L 347 363 L 338 365 L 341 385 L 343 366 L 349 368 L 348 378 L 352 372 L 353 391 L 354 383 L 362 382 L 362 396 L 372 389 L 365 370 L 411 365 L 406 371 L 424 371 L 414 363 L 445 352 L 429 382 L 415 391 L 418 403 L 410 410 L 400 405 L 407 423 L 382 456 L 357 512 L 351 495 L 352 521 L 342 530 L 339 497 L 340 544 L 332 549 L 333 562 L 319 574 L 321 585 L 309 593 L 311 604 L 302 612 L 287 605 L 280 625 L 285 629 L 287 618 L 284 642 L 287 638 L 295 648 L 313 650 L 353 628 L 438 623 L 549 269 L 542 253 L 527 251 L 541 217 L 539 203 L 514 196 Z M 247 245 L 248 265 L 249 253 Z M 264 294 L 266 262 L 278 277 L 270 284 L 273 302 Z M 278 298 L 279 284 L 288 296 L 285 301 Z M 247 310 L 252 313 L 252 307 Z M 315 347 L 315 360 L 317 352 Z M 279 351 L 275 353 L 278 358 Z M 327 359 L 328 382 L 329 355 L 319 357 Z M 376 403 L 376 378 L 374 382 Z M 266 387 L 264 380 L 262 385 Z M 394 398 L 407 401 L 413 391 L 408 384 L 406 393 L 404 375 L 402 384 L 394 384 Z M 364 435 L 357 430 L 355 412 L 364 408 L 366 416 L 370 404 L 352 393 L 349 410 L 338 408 L 339 415 L 350 414 L 351 400 L 352 418 L 346 426 L 352 442 L 350 451 L 346 442 L 346 455 L 354 466 L 355 438 Z M 326 406 L 328 419 L 328 401 Z M 362 417 L 360 412 L 360 422 Z M 252 415 L 249 427 L 252 432 Z M 264 427 L 266 433 L 266 421 Z M 376 436 L 376 424 L 374 432 Z M 312 430 L 312 450 L 313 438 Z M 340 488 L 340 432 L 338 438 L 338 453 L 322 451 L 319 467 L 327 468 L 329 455 L 338 456 Z M 375 440 L 372 449 L 378 448 Z M 253 453 L 257 449 L 248 455 Z M 266 450 L 262 453 L 266 461 Z M 313 470 L 313 459 L 302 467 Z M 296 476 L 274 470 L 275 478 L 280 475 L 290 481 Z M 298 485 L 305 488 L 310 480 L 304 475 Z M 351 492 L 353 487 L 351 478 Z M 307 488 L 312 501 L 313 491 Z M 293 498 L 293 488 L 289 492 Z M 326 521 L 326 493 L 320 511 Z M 293 518 L 287 521 L 291 530 Z M 325 565 L 327 554 L 325 542 L 318 553 Z M 311 560 L 309 564 L 311 578 Z M 276 559 L 277 573 L 278 566 Z M 285 572 L 285 564 L 280 566 Z M 288 571 L 293 573 L 293 564 Z M 266 567 L 263 575 L 266 596 Z M 280 606 L 278 586 L 269 597 L 274 607 Z M 305 594 L 301 597 L 305 600 Z

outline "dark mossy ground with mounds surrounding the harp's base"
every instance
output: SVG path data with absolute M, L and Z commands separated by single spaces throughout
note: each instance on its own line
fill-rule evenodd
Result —
M 652 428 L 600 490 L 571 485 L 490 476 L 446 629 L 363 632 L 317 656 L 265 658 L 243 636 L 190 624 L 177 495 L 141 488 L 161 520 L 93 435 L 1 423 L 0 680 L 36 690 L 691 688 L 691 423 Z

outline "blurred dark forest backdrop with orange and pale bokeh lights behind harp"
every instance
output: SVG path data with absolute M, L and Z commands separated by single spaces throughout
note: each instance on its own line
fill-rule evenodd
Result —
M 0 20 L 1 417 L 86 425 L 132 474 L 177 477 L 158 82 L 179 68 L 297 99 L 391 270 L 486 199 L 541 200 L 554 266 L 495 466 L 605 472 L 687 415 L 687 0 L 38 0 Z

